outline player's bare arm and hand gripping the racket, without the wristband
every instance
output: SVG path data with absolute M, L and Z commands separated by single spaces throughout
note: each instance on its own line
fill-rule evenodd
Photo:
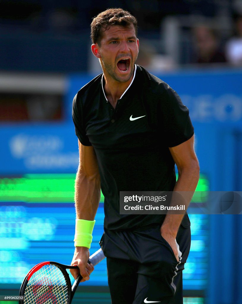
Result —
M 100 201 L 100 175 L 95 150 L 92 146 L 84 146 L 78 140 L 79 166 L 75 181 L 75 208 L 76 218 L 93 221 Z M 82 281 L 89 279 L 93 266 L 87 264 L 89 249 L 76 247 L 71 264 L 78 265 Z M 79 271 L 72 270 L 71 274 L 77 277 Z

